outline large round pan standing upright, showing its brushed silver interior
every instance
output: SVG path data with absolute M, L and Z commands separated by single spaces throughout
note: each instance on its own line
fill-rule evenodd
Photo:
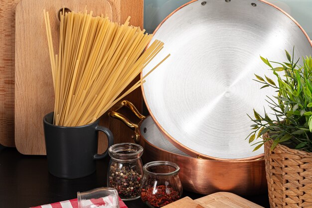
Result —
M 171 56 L 146 78 L 143 95 L 158 128 L 190 156 L 247 160 L 252 152 L 245 138 L 253 124 L 253 108 L 268 113 L 266 96 L 254 74 L 272 76 L 260 55 L 287 61 L 312 54 L 312 43 L 300 25 L 279 8 L 260 0 L 194 0 L 171 13 L 154 38 L 164 49 L 143 70 L 147 74 L 168 53 Z

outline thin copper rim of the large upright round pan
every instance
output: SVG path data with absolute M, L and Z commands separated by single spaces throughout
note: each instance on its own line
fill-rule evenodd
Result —
M 195 1 L 198 1 L 198 0 L 191 0 L 189 2 L 186 2 L 185 4 L 181 5 L 180 7 L 176 8 L 174 11 L 172 11 L 168 16 L 166 16 L 160 23 L 159 25 L 156 27 L 156 29 L 154 30 L 153 32 L 153 35 L 156 34 L 157 30 L 160 28 L 160 26 L 169 18 L 171 17 L 175 12 L 177 12 L 178 10 L 180 10 L 181 8 L 187 6 L 188 4 L 191 4 Z M 282 13 L 284 13 L 286 16 L 288 16 L 301 30 L 302 32 L 304 33 L 304 35 L 306 36 L 306 38 L 308 39 L 308 42 L 310 43 L 311 47 L 312 47 L 312 40 L 310 39 L 310 37 L 308 36 L 307 32 L 304 30 L 304 28 L 290 15 L 288 14 L 286 11 L 284 11 L 283 9 L 281 9 L 280 7 L 274 5 L 273 3 L 270 3 L 266 0 L 257 0 L 257 1 L 260 1 L 260 2 L 263 2 L 263 3 L 266 3 L 274 8 L 276 8 L 277 10 L 281 11 Z M 151 43 L 151 42 L 150 42 Z M 149 44 L 150 44 L 149 43 Z M 146 49 L 149 47 L 149 44 L 147 45 Z M 143 71 L 141 71 L 140 73 L 140 78 L 142 79 L 143 78 Z M 238 159 L 225 159 L 225 158 L 216 158 L 216 157 L 212 157 L 212 156 L 209 156 L 209 155 L 203 155 L 203 154 L 200 154 L 198 153 L 197 151 L 194 151 L 190 148 L 188 148 L 187 146 L 185 145 L 182 145 L 181 143 L 179 143 L 177 140 L 175 140 L 170 134 L 168 134 L 168 132 L 166 132 L 163 127 L 159 124 L 159 122 L 156 120 L 154 114 L 152 113 L 151 111 L 151 108 L 147 102 L 147 99 L 146 99 L 146 96 L 145 96 L 145 91 L 144 91 L 144 85 L 141 85 L 141 90 L 142 90 L 142 95 L 143 95 L 143 99 L 144 99 L 144 102 L 146 104 L 146 107 L 151 115 L 151 117 L 153 118 L 156 126 L 158 127 L 158 129 L 165 135 L 166 139 L 172 143 L 176 148 L 178 148 L 179 150 L 181 150 L 182 152 L 185 152 L 186 154 L 190 155 L 190 156 L 194 156 L 194 157 L 202 157 L 204 159 L 211 159 L 211 160 L 217 160 L 217 161 L 253 161 L 253 160 L 259 160 L 260 158 L 263 158 L 264 157 L 264 153 L 262 154 L 259 154 L 259 155 L 256 155 L 256 156 L 253 156 L 253 157 L 247 157 L 247 158 L 238 158 Z M 140 122 L 141 123 L 141 122 Z M 140 128 L 139 128 L 139 131 L 140 131 Z M 141 132 L 140 132 L 140 135 L 141 135 Z M 152 144 L 151 144 L 152 145 Z M 154 146 L 154 145 L 152 145 Z M 154 146 L 156 147 L 156 146 Z M 159 148 L 158 148 L 159 149 Z M 165 150 L 163 150 L 165 151 Z M 171 154 L 175 154 L 175 153 L 171 153 Z M 185 157 L 185 156 L 184 156 Z

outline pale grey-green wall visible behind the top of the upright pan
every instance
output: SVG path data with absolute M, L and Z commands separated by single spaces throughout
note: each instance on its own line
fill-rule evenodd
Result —
M 144 0 L 144 28 L 152 33 L 174 9 L 189 0 Z M 267 0 L 289 13 L 312 39 L 312 0 Z M 274 19 L 272 19 L 274 21 Z

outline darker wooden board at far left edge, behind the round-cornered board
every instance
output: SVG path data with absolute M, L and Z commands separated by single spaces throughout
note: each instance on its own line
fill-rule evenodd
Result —
M 15 7 L 20 0 L 0 0 L 0 144 L 14 147 Z

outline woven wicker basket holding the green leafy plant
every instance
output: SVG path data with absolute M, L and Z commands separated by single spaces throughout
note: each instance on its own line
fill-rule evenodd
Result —
M 271 208 L 312 208 L 312 153 L 265 143 Z

